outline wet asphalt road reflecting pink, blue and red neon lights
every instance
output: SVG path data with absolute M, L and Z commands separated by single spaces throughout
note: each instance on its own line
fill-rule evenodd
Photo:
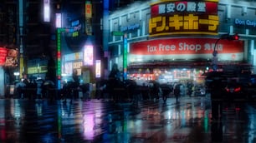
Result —
M 223 110 L 211 121 L 206 97 L 114 103 L 0 100 L 0 142 L 256 142 L 256 103 Z

